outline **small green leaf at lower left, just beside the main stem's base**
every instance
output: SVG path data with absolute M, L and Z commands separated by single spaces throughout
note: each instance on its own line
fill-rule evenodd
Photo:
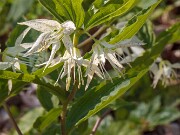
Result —
M 62 109 L 61 108 L 53 108 L 44 116 L 37 118 L 36 122 L 34 123 L 34 127 L 39 131 L 43 131 L 47 126 L 49 126 L 52 122 L 57 120 L 58 116 L 60 115 Z

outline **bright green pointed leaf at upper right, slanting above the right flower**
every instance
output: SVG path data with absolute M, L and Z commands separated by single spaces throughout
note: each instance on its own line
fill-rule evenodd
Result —
M 114 37 L 110 43 L 115 44 L 119 41 L 132 38 L 146 22 L 147 18 L 151 15 L 153 10 L 161 2 L 158 0 L 155 4 L 142 10 L 139 14 L 135 15 L 128 23 L 122 28 L 122 31 Z

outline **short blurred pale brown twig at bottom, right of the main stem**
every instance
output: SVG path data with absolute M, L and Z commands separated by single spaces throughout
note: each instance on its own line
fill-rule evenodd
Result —
M 107 110 L 100 118 L 97 119 L 90 135 L 95 135 L 99 125 L 101 124 L 101 121 L 111 112 L 111 110 Z

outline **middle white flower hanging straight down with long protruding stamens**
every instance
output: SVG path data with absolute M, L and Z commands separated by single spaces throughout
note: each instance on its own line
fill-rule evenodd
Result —
M 55 66 L 58 63 L 64 62 L 63 68 L 61 72 L 59 73 L 56 83 L 58 82 L 60 78 L 62 79 L 63 77 L 66 76 L 66 90 L 69 90 L 72 76 L 74 77 L 73 80 L 75 83 L 75 80 L 77 79 L 76 73 L 78 74 L 78 83 L 79 83 L 78 87 L 80 87 L 81 84 L 84 85 L 81 66 L 86 66 L 87 62 L 85 62 L 85 60 L 81 57 L 79 49 L 72 47 L 72 50 L 73 50 L 72 54 L 70 54 L 66 50 L 63 57 L 57 57 L 56 59 L 52 60 L 49 66 L 49 67 Z

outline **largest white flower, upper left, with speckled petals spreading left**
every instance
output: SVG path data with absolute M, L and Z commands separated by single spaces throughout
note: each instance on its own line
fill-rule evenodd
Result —
M 72 54 L 72 46 L 69 43 L 71 38 L 70 34 L 74 32 L 76 29 L 75 25 L 71 21 L 66 21 L 62 24 L 58 23 L 54 20 L 47 19 L 36 19 L 30 20 L 26 22 L 19 23 L 20 25 L 29 26 L 16 40 L 15 45 L 20 45 L 29 49 L 25 54 L 25 56 L 32 55 L 33 53 L 37 53 L 49 48 L 52 45 L 52 51 L 48 62 L 46 63 L 45 69 L 49 66 L 51 61 L 53 60 L 56 52 L 59 50 L 61 45 L 61 40 L 67 49 L 67 51 Z M 23 38 L 29 32 L 30 29 L 35 29 L 41 34 L 37 38 L 34 43 L 23 43 L 21 44 Z M 45 70 L 44 69 L 44 70 Z

